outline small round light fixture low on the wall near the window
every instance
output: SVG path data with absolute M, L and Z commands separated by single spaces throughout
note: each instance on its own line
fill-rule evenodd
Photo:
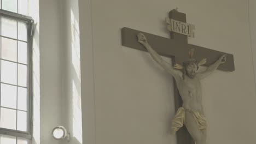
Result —
M 66 128 L 63 126 L 55 127 L 51 134 L 53 135 L 55 140 L 63 140 L 65 138 L 67 138 L 67 140 L 69 141 L 69 139 L 70 139 L 69 133 L 67 133 Z

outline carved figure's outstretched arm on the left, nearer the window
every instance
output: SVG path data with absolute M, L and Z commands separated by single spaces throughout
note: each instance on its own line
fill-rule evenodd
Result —
M 176 79 L 176 81 L 178 79 L 181 79 L 182 72 L 174 69 L 170 63 L 164 61 L 164 59 L 162 59 L 161 56 L 149 45 L 144 34 L 139 33 L 137 37 L 138 37 L 138 42 L 141 43 L 144 47 L 146 47 L 146 49 L 148 50 L 150 55 L 153 57 L 153 59 L 158 64 L 160 64 L 162 68 L 164 68 L 169 74 L 171 74 Z

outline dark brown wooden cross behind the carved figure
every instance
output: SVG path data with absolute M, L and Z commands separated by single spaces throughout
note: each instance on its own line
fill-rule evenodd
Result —
M 169 13 L 170 19 L 186 22 L 186 15 L 179 13 L 177 10 L 171 10 Z M 191 48 L 195 49 L 194 58 L 201 60 L 207 58 L 205 66 L 209 66 L 216 62 L 216 60 L 224 54 L 224 52 L 207 49 L 205 47 L 188 44 L 187 35 L 170 32 L 171 39 L 160 37 L 158 35 L 149 34 L 141 31 L 137 31 L 131 28 L 122 28 L 122 45 L 137 50 L 147 51 L 143 45 L 138 43 L 137 34 L 143 33 L 149 44 L 162 56 L 171 57 L 173 64 L 182 64 L 184 61 L 189 60 L 188 52 Z M 219 65 L 219 70 L 234 71 L 234 57 L 231 54 L 226 53 L 227 61 L 224 64 Z M 179 95 L 176 82 L 174 81 L 174 100 L 175 109 L 178 110 L 182 106 L 182 99 Z M 188 133 L 185 127 L 177 131 L 178 144 L 194 144 L 194 140 Z

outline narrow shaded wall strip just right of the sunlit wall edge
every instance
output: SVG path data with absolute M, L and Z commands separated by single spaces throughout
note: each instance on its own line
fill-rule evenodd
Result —
M 79 0 L 83 142 L 96 143 L 91 0 Z

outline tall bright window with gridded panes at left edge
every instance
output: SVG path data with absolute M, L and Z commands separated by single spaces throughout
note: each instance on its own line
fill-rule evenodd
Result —
M 32 139 L 31 34 L 28 0 L 0 0 L 0 143 Z

